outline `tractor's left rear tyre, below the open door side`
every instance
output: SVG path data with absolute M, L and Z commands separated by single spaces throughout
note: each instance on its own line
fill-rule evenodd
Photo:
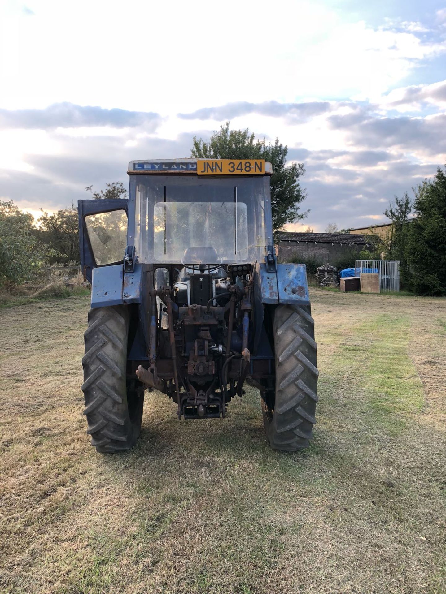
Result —
M 127 378 L 130 326 L 124 305 L 90 309 L 82 359 L 87 434 L 101 452 L 128 450 L 140 434 L 144 390 Z

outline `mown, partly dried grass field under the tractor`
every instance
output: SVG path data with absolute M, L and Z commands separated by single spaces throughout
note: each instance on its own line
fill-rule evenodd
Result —
M 90 447 L 86 296 L 0 310 L 0 592 L 446 591 L 446 301 L 313 290 L 318 425 L 270 450 L 250 390 Z

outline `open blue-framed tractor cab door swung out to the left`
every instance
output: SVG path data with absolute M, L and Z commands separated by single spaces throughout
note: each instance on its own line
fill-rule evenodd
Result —
M 78 200 L 80 264 L 92 282 L 93 268 L 124 261 L 128 199 Z

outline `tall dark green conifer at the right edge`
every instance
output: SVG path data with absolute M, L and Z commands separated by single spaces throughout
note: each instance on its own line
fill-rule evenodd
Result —
M 445 166 L 446 171 L 446 166 Z M 417 295 L 446 295 L 446 175 L 414 188 L 416 219 L 408 225 L 407 257 Z

